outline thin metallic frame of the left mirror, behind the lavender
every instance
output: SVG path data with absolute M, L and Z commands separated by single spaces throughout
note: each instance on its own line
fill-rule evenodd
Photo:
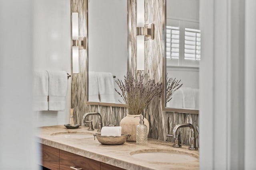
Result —
M 132 43 L 131 43 L 131 31 L 132 31 L 132 21 L 131 21 L 131 5 L 132 5 L 132 0 L 127 0 L 127 72 L 130 74 L 132 72 Z M 86 9 L 86 33 L 87 33 L 87 39 L 86 39 L 86 104 L 87 105 L 100 105 L 100 106 L 113 106 L 113 107 L 127 107 L 126 104 L 119 104 L 119 103 L 104 103 L 104 102 L 89 102 L 88 101 L 88 1 L 87 1 L 87 9 Z

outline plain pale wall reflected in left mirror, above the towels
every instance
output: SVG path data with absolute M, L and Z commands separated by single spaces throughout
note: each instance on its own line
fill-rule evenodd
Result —
M 114 80 L 123 80 L 128 62 L 127 29 L 126 0 L 89 0 L 89 71 L 111 72 L 116 76 Z M 117 93 L 115 95 L 120 99 Z

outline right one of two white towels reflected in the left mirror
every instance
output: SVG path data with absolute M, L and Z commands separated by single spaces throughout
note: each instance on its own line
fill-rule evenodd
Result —
M 113 74 L 98 72 L 100 102 L 115 103 L 115 88 Z

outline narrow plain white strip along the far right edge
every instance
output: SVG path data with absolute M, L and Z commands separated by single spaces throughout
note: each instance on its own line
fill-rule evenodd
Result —
M 245 170 L 256 169 L 256 1 L 245 0 Z

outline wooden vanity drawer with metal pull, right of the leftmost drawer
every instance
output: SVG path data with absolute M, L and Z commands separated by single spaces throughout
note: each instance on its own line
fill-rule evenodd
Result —
M 100 162 L 60 150 L 60 170 L 72 170 L 70 166 L 82 170 L 100 170 Z

